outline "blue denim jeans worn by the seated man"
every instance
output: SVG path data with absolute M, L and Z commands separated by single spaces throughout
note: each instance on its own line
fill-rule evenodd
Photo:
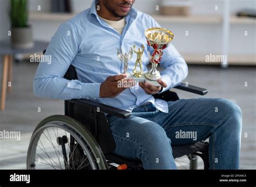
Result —
M 144 169 L 177 169 L 172 146 L 209 140 L 210 169 L 239 169 L 242 113 L 226 99 L 180 99 L 169 113 L 152 104 L 133 109 L 128 119 L 107 115 L 116 141 L 113 153 L 141 160 Z

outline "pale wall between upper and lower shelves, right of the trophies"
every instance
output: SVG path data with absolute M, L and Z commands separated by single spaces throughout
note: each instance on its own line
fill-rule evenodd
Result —
M 220 54 L 222 51 L 222 28 L 219 24 L 172 24 L 160 23 L 174 33 L 172 43 L 181 53 L 189 54 Z M 188 36 L 185 32 L 188 31 Z M 245 36 L 245 31 L 248 35 Z M 231 25 L 230 54 L 256 53 L 255 25 Z

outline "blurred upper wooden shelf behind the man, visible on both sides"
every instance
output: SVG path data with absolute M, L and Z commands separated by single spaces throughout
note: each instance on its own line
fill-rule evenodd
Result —
M 67 21 L 75 17 L 77 13 L 51 13 L 51 12 L 30 12 L 30 20 L 37 21 Z M 223 18 L 215 15 L 192 15 L 192 16 L 163 16 L 152 15 L 158 22 L 179 23 L 179 24 L 220 24 Z M 256 19 L 248 17 L 230 17 L 231 24 L 256 24 Z

